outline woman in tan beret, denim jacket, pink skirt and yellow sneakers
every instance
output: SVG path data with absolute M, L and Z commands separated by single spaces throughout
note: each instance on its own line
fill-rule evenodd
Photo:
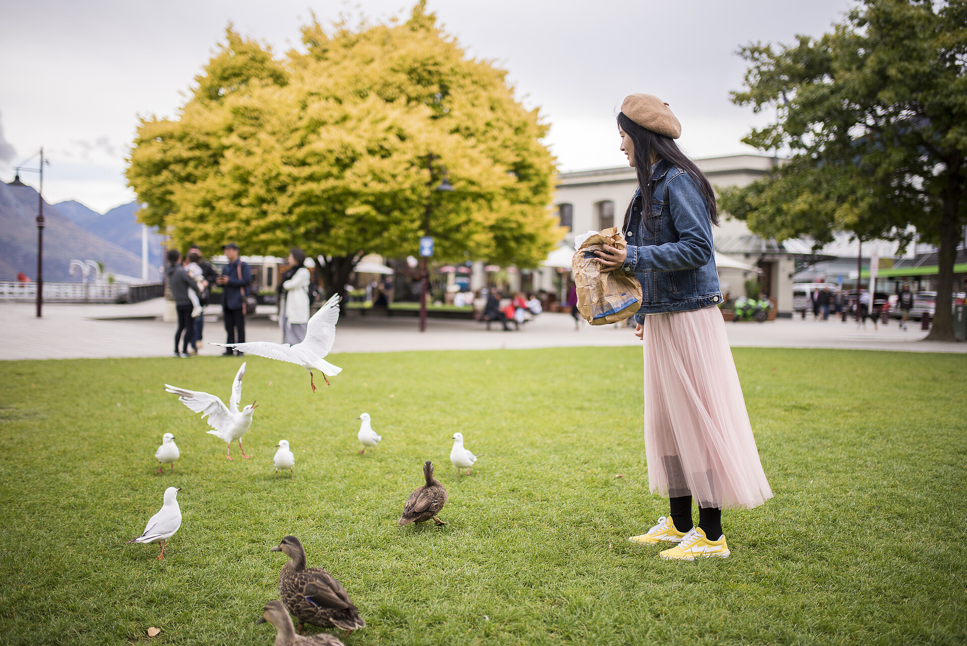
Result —
M 601 272 L 633 272 L 643 288 L 635 336 L 644 340 L 648 481 L 670 499 L 670 517 L 630 541 L 679 543 L 665 559 L 727 558 L 721 510 L 758 507 L 773 493 L 717 307 L 715 192 L 675 143 L 681 125 L 667 103 L 630 95 L 618 127 L 638 190 L 622 227 L 628 247 L 597 254 Z

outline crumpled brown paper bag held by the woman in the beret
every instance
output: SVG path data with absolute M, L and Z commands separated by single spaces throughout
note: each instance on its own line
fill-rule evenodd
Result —
M 601 274 L 595 255 L 604 245 L 624 249 L 617 227 L 588 236 L 574 252 L 571 270 L 577 287 L 577 310 L 591 325 L 617 323 L 633 316 L 641 305 L 641 285 L 633 274 L 618 270 Z

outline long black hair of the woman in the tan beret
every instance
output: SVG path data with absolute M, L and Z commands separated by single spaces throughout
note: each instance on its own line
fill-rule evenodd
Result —
M 631 137 L 634 144 L 634 172 L 638 176 L 638 187 L 641 189 L 641 212 L 645 220 L 645 226 L 650 232 L 652 228 L 651 214 L 652 191 L 655 186 L 652 183 L 652 158 L 660 158 L 673 166 L 681 168 L 691 175 L 691 179 L 698 185 L 698 191 L 705 198 L 705 204 L 709 207 L 709 215 L 712 223 L 718 226 L 718 207 L 716 206 L 716 191 L 712 190 L 709 178 L 705 176 L 694 162 L 685 156 L 675 143 L 675 140 L 664 134 L 642 128 L 630 120 L 624 112 L 618 113 L 618 128 L 626 132 Z M 634 200 L 632 199 L 631 202 Z M 631 218 L 631 204 L 625 211 L 625 224 L 623 229 L 628 229 L 628 222 Z

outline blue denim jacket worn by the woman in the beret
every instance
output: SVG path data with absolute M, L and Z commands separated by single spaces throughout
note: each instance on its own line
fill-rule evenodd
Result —
M 624 232 L 628 257 L 622 269 L 641 283 L 641 308 L 634 315 L 638 323 L 646 314 L 707 308 L 722 300 L 705 198 L 689 173 L 664 160 L 652 177 L 652 230 L 641 217 L 639 189 Z

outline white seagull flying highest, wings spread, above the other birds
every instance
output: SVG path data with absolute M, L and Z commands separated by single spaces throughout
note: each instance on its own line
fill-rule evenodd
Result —
M 305 367 L 308 370 L 308 383 L 315 393 L 315 383 L 312 379 L 312 370 L 322 372 L 322 378 L 329 386 L 330 377 L 335 377 L 342 371 L 341 367 L 333 366 L 323 357 L 333 349 L 336 342 L 336 322 L 339 320 L 339 295 L 326 301 L 326 305 L 319 308 L 319 311 L 308 319 L 306 338 L 301 343 L 289 345 L 288 343 L 273 343 L 271 341 L 251 341 L 249 343 L 213 343 L 226 348 L 235 348 L 241 352 L 247 352 L 257 357 L 266 357 L 276 361 L 287 361 L 296 366 Z

